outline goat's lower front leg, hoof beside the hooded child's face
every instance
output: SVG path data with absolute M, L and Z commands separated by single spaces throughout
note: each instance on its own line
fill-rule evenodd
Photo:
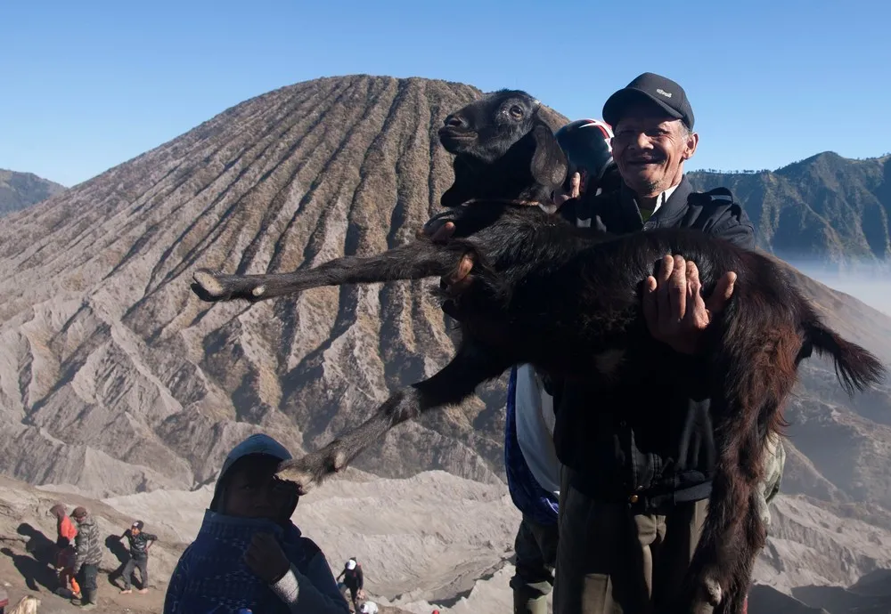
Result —
M 511 364 L 478 345 L 464 345 L 445 368 L 429 379 L 394 392 L 363 424 L 307 456 L 283 462 L 279 476 L 297 482 L 298 492 L 304 495 L 331 473 L 343 471 L 365 448 L 379 441 L 396 424 L 420 416 L 429 409 L 462 402 L 479 384 L 500 376 Z

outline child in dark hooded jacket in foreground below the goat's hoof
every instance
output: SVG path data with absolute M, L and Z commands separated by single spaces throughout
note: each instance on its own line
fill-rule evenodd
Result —
M 198 536 L 170 578 L 164 614 L 347 614 L 325 555 L 290 521 L 297 486 L 275 475 L 290 457 L 264 434 L 226 456 Z

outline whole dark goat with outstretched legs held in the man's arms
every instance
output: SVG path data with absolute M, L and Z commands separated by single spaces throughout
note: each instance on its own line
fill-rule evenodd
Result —
M 812 349 L 829 354 L 850 394 L 877 383 L 884 368 L 824 326 L 763 254 L 695 230 L 613 238 L 529 206 L 548 203 L 566 175 L 566 158 L 538 109 L 526 93 L 498 92 L 446 117 L 439 138 L 456 155 L 455 182 L 442 202 L 453 207 L 456 232 L 445 245 L 420 238 L 383 254 L 285 274 L 200 270 L 192 288 L 206 301 L 257 301 L 311 287 L 441 276 L 454 271 L 463 254 L 475 256 L 475 281 L 457 301 L 462 343 L 454 360 L 394 392 L 361 426 L 282 464 L 282 477 L 306 491 L 396 424 L 461 402 L 515 364 L 567 379 L 596 376 L 603 386 L 648 385 L 642 374 L 676 367 L 654 364 L 653 357 L 665 353 L 642 316 L 642 280 L 655 274 L 665 254 L 697 264 L 705 295 L 726 271 L 736 271 L 732 299 L 705 333 L 710 372 L 683 374 L 712 399 L 718 459 L 697 552 L 678 602 L 667 610 L 687 612 L 707 600 L 735 614 L 766 538 L 756 513 L 764 440 L 780 430 L 798 361 Z

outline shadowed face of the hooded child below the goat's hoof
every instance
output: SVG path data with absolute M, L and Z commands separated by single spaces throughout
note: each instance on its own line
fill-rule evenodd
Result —
M 282 521 L 297 496 L 296 485 L 275 477 L 274 458 L 251 459 L 229 480 L 224 513 L 240 518 Z

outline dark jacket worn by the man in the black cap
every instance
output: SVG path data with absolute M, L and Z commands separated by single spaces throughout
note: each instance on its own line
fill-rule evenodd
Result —
M 728 190 L 694 192 L 682 182 L 647 222 L 634 194 L 621 188 L 569 201 L 565 215 L 590 220 L 592 228 L 624 234 L 656 228 L 691 228 L 753 249 L 755 230 Z M 569 204 L 568 203 L 568 204 Z M 572 220 L 575 222 L 575 220 Z M 703 359 L 665 347 L 663 364 L 689 363 L 689 373 L 707 369 Z M 596 500 L 626 503 L 635 511 L 658 513 L 674 503 L 709 496 L 715 447 L 708 399 L 653 369 L 651 385 L 593 392 L 581 384 L 555 383 L 557 456 L 571 486 Z

